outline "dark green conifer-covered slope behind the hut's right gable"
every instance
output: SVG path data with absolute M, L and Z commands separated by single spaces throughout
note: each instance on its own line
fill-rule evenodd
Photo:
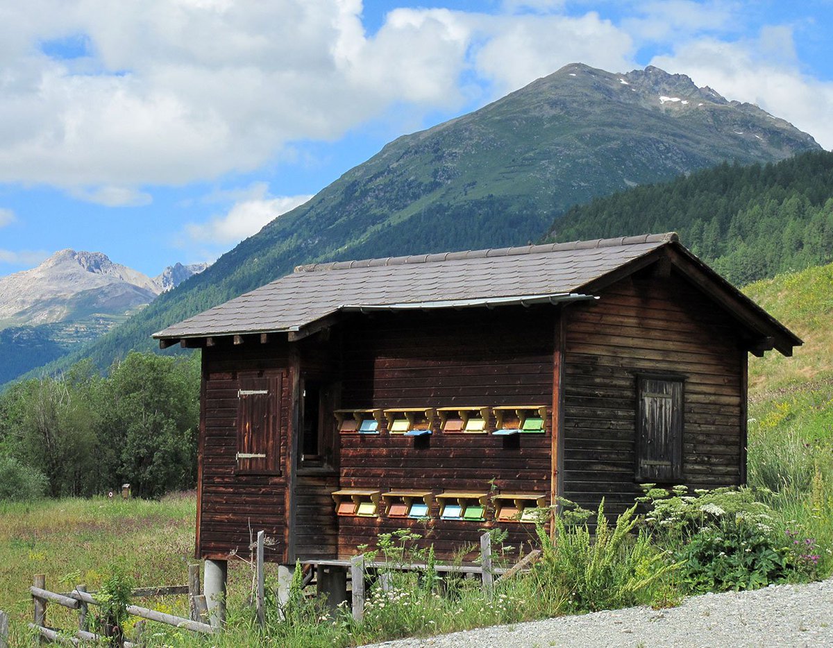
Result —
M 833 261 L 833 153 L 721 164 L 573 207 L 547 241 L 676 231 L 736 285 Z

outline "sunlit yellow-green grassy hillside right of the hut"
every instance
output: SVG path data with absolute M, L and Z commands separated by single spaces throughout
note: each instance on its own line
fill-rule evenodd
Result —
M 833 573 L 833 264 L 745 291 L 804 340 L 795 356 L 750 362 L 749 481 L 781 519 L 815 541 Z

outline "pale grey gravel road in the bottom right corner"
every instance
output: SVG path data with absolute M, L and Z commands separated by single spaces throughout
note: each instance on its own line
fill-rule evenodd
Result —
M 833 646 L 833 579 L 693 596 L 666 610 L 631 607 L 374 646 Z

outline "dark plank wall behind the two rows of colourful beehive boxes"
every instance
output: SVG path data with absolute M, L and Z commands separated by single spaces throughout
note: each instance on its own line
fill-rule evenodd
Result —
M 553 307 L 363 318 L 344 331 L 342 406 L 551 406 L 555 318 Z M 437 417 L 427 443 L 387 431 L 341 435 L 340 486 L 486 492 L 494 481 L 502 491 L 549 494 L 549 417 L 546 434 L 521 435 L 516 442 L 443 435 L 439 424 Z M 487 524 L 438 520 L 436 503 L 431 512 L 427 528 L 402 518 L 339 517 L 339 554 L 350 556 L 358 545 L 374 545 L 379 533 L 409 527 L 426 535 L 438 556 L 452 558 L 461 546 L 476 543 Z M 516 547 L 534 534 L 528 524 L 506 527 Z

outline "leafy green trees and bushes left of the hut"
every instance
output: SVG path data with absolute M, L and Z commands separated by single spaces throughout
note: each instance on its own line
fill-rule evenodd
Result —
M 86 360 L 0 394 L 0 499 L 143 497 L 197 478 L 200 356 L 132 351 L 106 375 Z

